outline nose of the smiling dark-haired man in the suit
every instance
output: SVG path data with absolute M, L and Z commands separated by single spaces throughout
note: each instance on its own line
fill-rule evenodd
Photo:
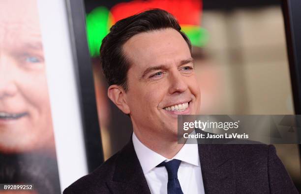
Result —
M 170 75 L 170 87 L 169 93 L 182 93 L 185 92 L 188 88 L 188 85 L 185 81 L 185 78 L 181 73 L 177 70 L 176 72 L 171 73 Z

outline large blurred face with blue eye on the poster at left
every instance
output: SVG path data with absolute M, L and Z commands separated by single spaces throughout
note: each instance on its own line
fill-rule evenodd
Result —
M 22 152 L 52 145 L 36 2 L 1 1 L 0 151 Z

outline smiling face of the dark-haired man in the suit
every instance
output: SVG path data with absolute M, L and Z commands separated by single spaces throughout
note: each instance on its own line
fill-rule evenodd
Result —
M 175 139 L 178 115 L 198 114 L 200 106 L 187 43 L 168 28 L 133 36 L 123 51 L 131 63 L 126 100 L 135 133 Z

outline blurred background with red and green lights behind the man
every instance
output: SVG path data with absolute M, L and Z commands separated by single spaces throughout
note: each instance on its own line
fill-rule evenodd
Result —
M 174 14 L 192 41 L 200 114 L 295 114 L 280 0 L 85 0 L 85 7 L 105 159 L 129 141 L 132 126 L 107 97 L 101 40 L 112 24 L 146 8 Z M 299 146 L 275 147 L 301 191 Z

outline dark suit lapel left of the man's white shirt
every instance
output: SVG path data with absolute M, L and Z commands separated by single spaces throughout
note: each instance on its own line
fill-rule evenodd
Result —
M 142 167 L 136 155 L 132 138 L 120 151 L 116 160 L 113 181 L 107 183 L 114 194 L 151 194 Z

